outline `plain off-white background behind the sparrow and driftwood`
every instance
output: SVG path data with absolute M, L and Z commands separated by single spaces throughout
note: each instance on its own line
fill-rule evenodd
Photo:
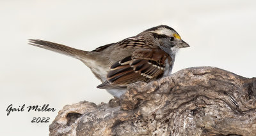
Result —
M 37 48 L 44 39 L 81 50 L 115 43 L 156 25 L 173 27 L 190 48 L 179 51 L 173 72 L 210 65 L 256 76 L 255 1 L 0 1 L 1 135 L 48 135 L 66 104 L 111 99 L 90 69 L 65 55 Z M 55 112 L 11 112 L 13 104 L 49 104 Z

